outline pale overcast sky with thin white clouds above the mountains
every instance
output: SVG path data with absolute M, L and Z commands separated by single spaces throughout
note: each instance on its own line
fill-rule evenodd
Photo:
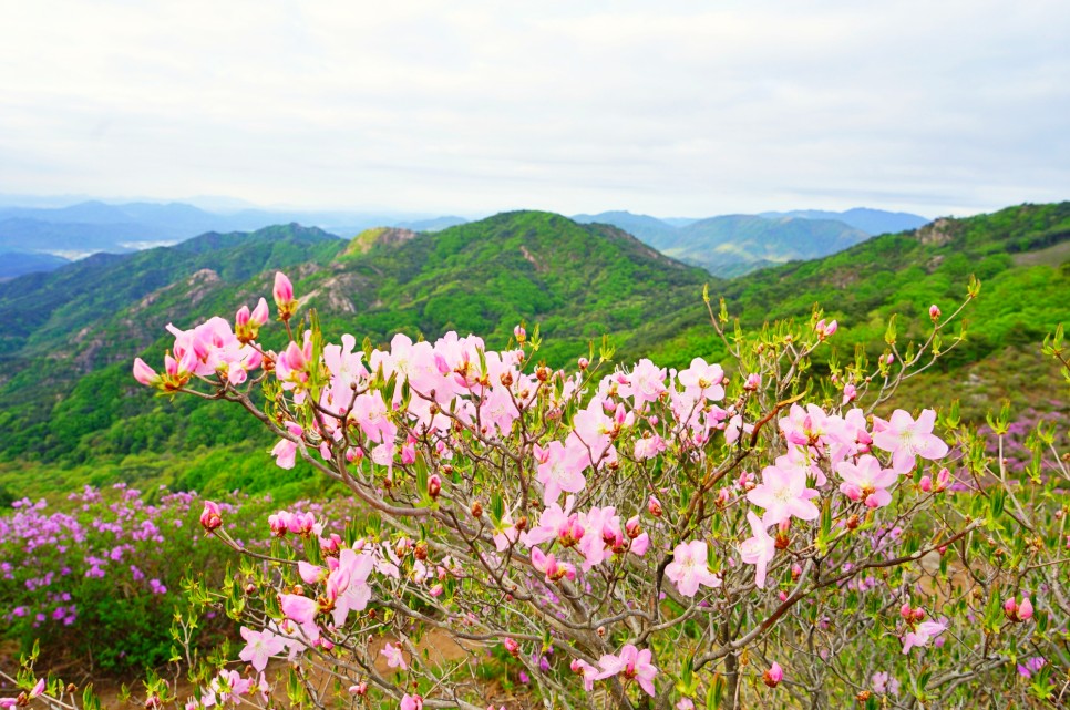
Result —
M 1070 199 L 1070 2 L 0 0 L 0 193 L 701 217 Z

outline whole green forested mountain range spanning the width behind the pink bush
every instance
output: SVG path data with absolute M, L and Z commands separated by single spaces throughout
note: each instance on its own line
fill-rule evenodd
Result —
M 270 292 L 277 269 L 325 330 L 358 340 L 383 343 L 399 331 L 434 339 L 455 329 L 501 348 L 525 322 L 529 332 L 539 326 L 539 357 L 551 364 L 588 354 L 609 335 L 620 361 L 651 357 L 672 367 L 726 358 L 701 301 L 706 284 L 750 328 L 809 318 L 821 302 L 841 322 L 836 343 L 851 353 L 856 342 L 878 348 L 892 313 L 903 337 L 918 336 L 928 306 L 951 308 L 976 274 L 984 292 L 971 305 L 969 339 L 942 363 L 951 379 L 939 397 L 977 409 L 1002 395 L 1053 401 L 1037 389 L 1047 380 L 1036 353 L 1047 332 L 1070 320 L 1070 203 L 937 220 L 731 280 L 617 227 L 538 212 L 436 233 L 377 228 L 352 239 L 290 224 L 95 255 L 0 284 L 0 487 L 22 494 L 158 480 L 204 491 L 277 482 L 269 461 L 248 455 L 270 442 L 250 438 L 236 411 L 153 398 L 130 374 L 135 356 L 158 362 L 171 340 L 166 323 L 233 316 Z M 1014 367 L 1008 352 L 1018 353 Z M 964 378 L 963 368 L 988 369 Z

